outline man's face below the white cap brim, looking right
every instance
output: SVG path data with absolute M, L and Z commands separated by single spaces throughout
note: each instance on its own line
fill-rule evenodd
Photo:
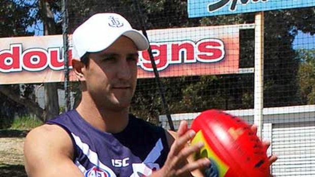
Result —
M 109 48 L 89 54 L 84 77 L 87 92 L 99 109 L 128 108 L 137 83 L 136 45 L 121 36 Z

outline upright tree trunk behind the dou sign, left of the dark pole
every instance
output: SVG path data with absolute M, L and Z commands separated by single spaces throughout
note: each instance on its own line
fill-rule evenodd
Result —
M 42 15 L 44 35 L 56 34 L 56 26 L 53 13 L 49 3 L 45 0 L 39 1 Z M 44 83 L 45 89 L 45 120 L 59 115 L 58 89 L 57 83 Z

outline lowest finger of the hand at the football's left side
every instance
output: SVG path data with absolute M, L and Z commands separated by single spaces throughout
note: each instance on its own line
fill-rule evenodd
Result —
M 198 159 L 197 161 L 187 163 L 185 166 L 182 168 L 178 169 L 175 172 L 175 175 L 181 175 L 181 176 L 187 176 L 183 174 L 189 174 L 191 171 L 194 171 L 196 169 L 204 169 L 210 166 L 210 160 L 208 158 L 202 158 Z

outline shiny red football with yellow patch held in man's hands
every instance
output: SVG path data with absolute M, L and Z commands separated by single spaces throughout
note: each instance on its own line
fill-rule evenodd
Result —
M 191 143 L 203 141 L 205 146 L 196 158 L 208 157 L 208 176 L 266 177 L 269 162 L 262 141 L 239 117 L 223 111 L 202 112 L 192 123 L 196 131 Z

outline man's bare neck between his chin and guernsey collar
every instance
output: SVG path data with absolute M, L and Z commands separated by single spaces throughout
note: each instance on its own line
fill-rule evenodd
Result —
M 109 133 L 121 132 L 129 122 L 129 108 L 123 110 L 98 109 L 91 101 L 84 101 L 77 107 L 77 112 L 91 126 Z

